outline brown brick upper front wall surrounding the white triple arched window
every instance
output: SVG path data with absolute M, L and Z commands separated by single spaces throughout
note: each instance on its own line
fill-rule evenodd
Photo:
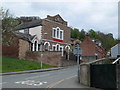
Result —
M 62 25 L 62 24 L 55 23 L 55 22 L 47 21 L 45 19 L 43 19 L 43 24 L 45 26 L 42 27 L 42 32 L 43 33 L 48 33 L 47 35 L 43 36 L 45 39 L 53 40 L 53 38 L 52 38 L 52 28 L 59 27 L 60 29 L 64 30 L 63 43 L 70 43 L 71 30 L 70 30 L 69 27 L 67 27 L 65 25 Z

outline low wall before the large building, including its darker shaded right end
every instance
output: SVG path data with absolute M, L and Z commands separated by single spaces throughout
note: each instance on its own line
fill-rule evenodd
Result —
M 41 52 L 30 52 L 27 51 L 26 53 L 26 60 L 36 61 L 40 62 L 42 59 L 42 62 L 45 64 L 49 64 L 52 66 L 71 66 L 76 65 L 75 56 L 70 54 L 70 60 L 66 59 L 66 53 L 64 53 L 64 56 L 61 56 L 61 52 L 49 52 L 45 51 L 42 52 L 43 56 L 41 58 Z

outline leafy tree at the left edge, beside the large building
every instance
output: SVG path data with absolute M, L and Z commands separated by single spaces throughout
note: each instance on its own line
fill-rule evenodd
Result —
M 2 13 L 2 44 L 10 46 L 15 40 L 13 30 L 18 24 L 20 24 L 20 21 L 14 18 L 8 9 L 4 10 L 1 8 L 0 13 Z

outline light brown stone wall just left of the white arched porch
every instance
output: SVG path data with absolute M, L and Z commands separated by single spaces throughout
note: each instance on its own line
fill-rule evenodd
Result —
M 30 50 L 29 42 L 19 39 L 19 59 L 25 59 L 26 52 Z

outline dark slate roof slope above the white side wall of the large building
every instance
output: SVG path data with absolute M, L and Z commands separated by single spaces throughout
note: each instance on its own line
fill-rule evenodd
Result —
M 15 30 L 20 30 L 20 29 L 26 29 L 26 28 L 31 28 L 31 27 L 35 27 L 35 26 L 42 26 L 42 20 L 33 20 L 31 22 L 25 22 L 22 23 L 20 25 L 18 25 Z

